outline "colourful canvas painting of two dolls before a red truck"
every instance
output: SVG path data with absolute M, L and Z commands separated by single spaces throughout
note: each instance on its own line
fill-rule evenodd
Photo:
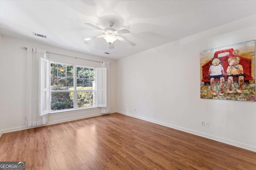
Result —
M 203 99 L 255 102 L 255 40 L 200 52 Z

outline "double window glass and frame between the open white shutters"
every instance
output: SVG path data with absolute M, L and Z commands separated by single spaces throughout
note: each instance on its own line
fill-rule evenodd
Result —
M 50 69 L 52 111 L 96 106 L 95 68 L 51 63 Z

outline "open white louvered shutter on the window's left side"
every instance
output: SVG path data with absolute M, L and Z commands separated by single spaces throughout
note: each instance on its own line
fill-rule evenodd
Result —
M 50 61 L 40 58 L 40 116 L 50 113 Z

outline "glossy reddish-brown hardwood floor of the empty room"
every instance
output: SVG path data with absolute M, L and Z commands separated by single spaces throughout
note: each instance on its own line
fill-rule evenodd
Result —
M 256 152 L 119 113 L 12 133 L 0 161 L 27 170 L 256 170 Z

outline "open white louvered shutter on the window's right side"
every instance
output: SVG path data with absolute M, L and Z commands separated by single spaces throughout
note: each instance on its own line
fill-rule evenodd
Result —
M 97 107 L 107 106 L 107 68 L 96 68 Z

